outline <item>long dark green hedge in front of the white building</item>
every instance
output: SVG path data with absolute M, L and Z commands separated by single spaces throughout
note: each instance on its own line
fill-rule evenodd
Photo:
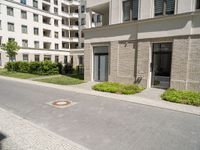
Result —
M 59 74 L 59 64 L 51 61 L 43 62 L 8 62 L 5 66 L 8 71 L 32 73 L 38 75 Z

